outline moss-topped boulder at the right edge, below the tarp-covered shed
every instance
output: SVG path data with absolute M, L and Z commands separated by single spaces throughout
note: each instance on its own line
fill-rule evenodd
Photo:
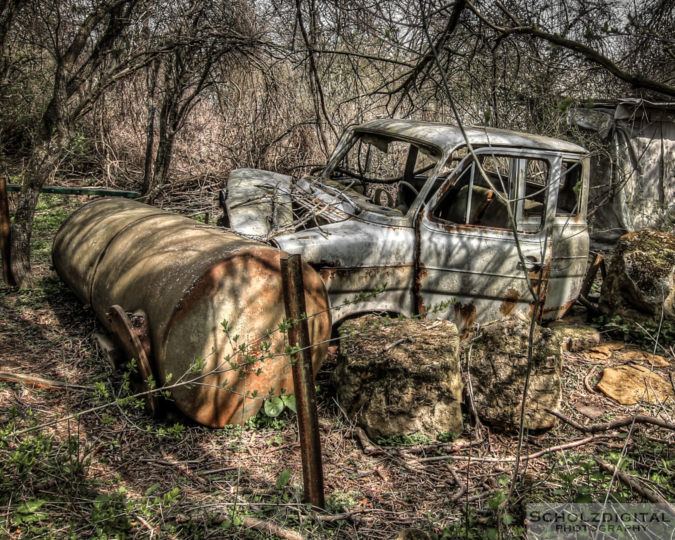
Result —
M 652 229 L 619 240 L 600 292 L 600 308 L 610 319 L 675 319 L 675 238 Z

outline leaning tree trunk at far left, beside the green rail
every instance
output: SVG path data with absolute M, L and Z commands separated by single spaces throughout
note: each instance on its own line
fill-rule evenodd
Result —
M 52 94 L 34 138 L 11 226 L 11 269 L 17 284 L 34 286 L 30 271 L 32 221 L 42 186 L 74 137 L 75 122 L 106 86 L 142 65 L 144 59 L 120 47 L 140 0 L 94 5 L 77 18 L 59 1 L 24 4 L 22 23 L 42 41 L 53 61 Z

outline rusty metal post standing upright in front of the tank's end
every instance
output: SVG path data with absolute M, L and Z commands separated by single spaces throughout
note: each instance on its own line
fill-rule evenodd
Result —
M 292 346 L 295 344 L 300 346 L 300 350 L 293 354 L 292 371 L 298 407 L 304 499 L 313 506 L 325 508 L 317 392 L 314 385 L 312 356 L 309 350 L 309 329 L 304 315 L 306 313 L 304 282 L 302 280 L 302 259 L 299 254 L 281 259 L 281 284 L 284 287 L 286 318 L 292 321 L 288 329 L 288 340 Z

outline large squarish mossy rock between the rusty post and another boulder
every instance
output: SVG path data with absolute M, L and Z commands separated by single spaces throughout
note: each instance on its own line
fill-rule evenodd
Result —
M 377 328 L 375 328 L 377 326 Z M 340 333 L 333 384 L 343 410 L 371 439 L 461 433 L 459 335 L 450 321 L 395 321 L 367 315 Z

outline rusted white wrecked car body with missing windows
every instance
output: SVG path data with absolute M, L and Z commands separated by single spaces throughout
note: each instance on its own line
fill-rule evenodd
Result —
M 487 128 L 466 128 L 466 138 L 472 151 L 456 126 L 369 121 L 344 134 L 320 175 L 293 183 L 233 171 L 222 223 L 302 254 L 333 306 L 387 284 L 333 323 L 385 311 L 461 331 L 518 309 L 562 317 L 588 258 L 585 150 Z

